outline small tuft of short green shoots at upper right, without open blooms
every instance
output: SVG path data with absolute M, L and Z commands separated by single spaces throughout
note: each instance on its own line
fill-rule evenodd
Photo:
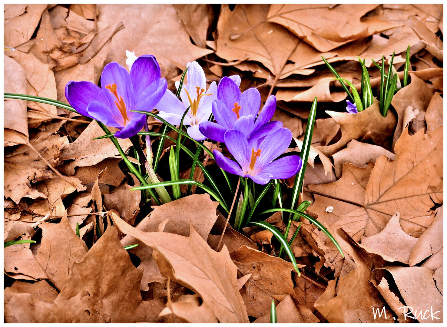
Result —
M 380 70 L 380 90 L 378 92 L 380 96 L 380 113 L 382 113 L 382 116 L 386 116 L 388 113 L 389 106 L 391 105 L 392 97 L 397 92 L 399 88 L 402 87 L 401 81 L 399 80 L 399 76 L 397 75 L 397 71 L 393 66 L 393 60 L 395 52 L 393 52 L 391 59 L 389 60 L 388 65 L 388 73 L 385 74 L 385 56 L 382 56 L 382 62 L 379 65 L 374 61 L 374 59 L 371 59 L 372 62 L 375 64 L 377 68 Z M 410 66 L 410 46 L 407 47 L 406 51 L 406 57 L 405 57 L 405 66 L 404 66 L 404 80 L 403 80 L 403 86 L 407 86 L 408 84 L 408 71 Z M 323 57 L 321 57 L 323 58 Z M 340 75 L 338 75 L 337 71 L 331 66 L 328 61 L 323 58 L 323 61 L 325 62 L 326 66 L 329 68 L 330 71 L 336 76 L 334 80 L 339 80 L 342 84 L 343 89 L 346 91 L 348 96 L 350 97 L 351 101 L 355 103 L 357 106 L 357 111 L 363 111 L 364 109 L 368 108 L 370 105 L 374 102 L 374 96 L 372 93 L 371 88 L 371 81 L 369 79 L 369 74 L 367 67 L 365 66 L 365 59 L 363 61 L 359 58 L 358 61 L 360 62 L 362 66 L 362 82 L 361 82 L 361 90 L 360 93 L 358 93 L 357 89 L 354 87 L 354 85 L 346 80 L 342 79 Z M 346 84 L 347 85 L 346 85 Z M 351 91 L 349 90 L 349 88 Z

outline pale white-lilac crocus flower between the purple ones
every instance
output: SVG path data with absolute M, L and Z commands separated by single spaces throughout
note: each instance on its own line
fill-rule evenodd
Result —
M 186 108 L 190 106 L 188 113 L 183 120 L 183 125 L 188 127 L 188 134 L 197 141 L 205 140 L 206 137 L 200 133 L 198 126 L 202 122 L 207 122 L 211 116 L 211 104 L 213 100 L 217 99 L 217 85 L 212 82 L 208 90 L 205 72 L 200 65 L 193 61 L 188 63 L 189 67 L 186 72 L 187 82 L 183 83 L 180 92 L 181 101 L 175 94 L 166 90 L 164 96 L 156 106 L 160 112 L 158 115 L 172 125 L 180 125 L 181 117 L 185 113 Z M 240 77 L 237 75 L 231 76 L 232 80 L 240 85 Z M 180 82 L 175 82 L 178 89 Z

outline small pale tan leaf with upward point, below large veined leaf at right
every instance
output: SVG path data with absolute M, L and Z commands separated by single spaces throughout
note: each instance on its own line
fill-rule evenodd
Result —
M 408 264 L 410 254 L 418 239 L 402 231 L 400 220 L 400 214 L 396 213 L 379 234 L 371 237 L 362 236 L 361 244 Z

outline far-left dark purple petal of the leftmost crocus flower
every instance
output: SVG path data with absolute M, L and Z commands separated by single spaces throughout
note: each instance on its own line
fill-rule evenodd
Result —
M 65 86 L 65 97 L 78 113 L 87 117 L 90 117 L 87 107 L 91 102 L 99 101 L 106 107 L 109 106 L 109 101 L 102 93 L 101 88 L 91 82 L 68 82 Z

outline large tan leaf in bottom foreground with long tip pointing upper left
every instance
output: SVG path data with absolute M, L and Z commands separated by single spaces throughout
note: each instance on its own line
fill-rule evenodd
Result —
M 112 217 L 123 233 L 152 247 L 165 277 L 171 275 L 174 281 L 198 293 L 219 322 L 249 322 L 237 285 L 237 268 L 226 247 L 221 252 L 213 251 L 193 227 L 189 237 L 165 232 L 144 233 L 116 214 Z

